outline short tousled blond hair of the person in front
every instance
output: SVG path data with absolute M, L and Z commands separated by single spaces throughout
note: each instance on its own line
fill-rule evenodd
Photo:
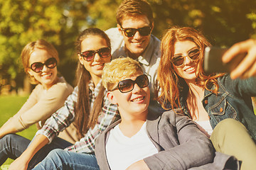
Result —
M 117 82 L 137 73 L 143 73 L 139 62 L 129 57 L 119 57 L 105 64 L 102 72 L 102 85 L 110 91 L 114 89 Z

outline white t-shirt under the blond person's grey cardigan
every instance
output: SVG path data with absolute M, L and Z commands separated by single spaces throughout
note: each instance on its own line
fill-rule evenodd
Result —
M 127 169 L 128 166 L 158 153 L 146 133 L 146 123 L 132 137 L 124 136 L 116 125 L 110 130 L 106 144 L 107 162 L 112 170 Z

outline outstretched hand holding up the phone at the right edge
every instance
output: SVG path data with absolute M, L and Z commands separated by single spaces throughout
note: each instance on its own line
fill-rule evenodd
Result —
M 223 62 L 230 62 L 236 55 L 247 52 L 245 58 L 238 64 L 238 67 L 230 73 L 231 79 L 247 79 L 256 76 L 256 40 L 249 39 L 238 42 L 223 55 Z

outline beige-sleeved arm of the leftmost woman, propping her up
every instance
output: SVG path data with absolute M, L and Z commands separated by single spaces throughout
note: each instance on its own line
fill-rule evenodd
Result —
M 0 137 L 9 133 L 19 132 L 40 120 L 46 120 L 58 108 L 63 106 L 65 99 L 71 93 L 71 86 L 65 84 L 53 85 L 46 94 L 43 89 L 35 89 L 28 101 L 13 118 L 10 118 L 0 129 Z M 39 97 L 38 97 L 39 96 Z

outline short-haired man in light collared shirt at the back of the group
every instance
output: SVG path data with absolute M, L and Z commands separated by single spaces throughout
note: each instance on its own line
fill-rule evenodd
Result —
M 151 34 L 154 18 L 151 6 L 145 0 L 124 0 L 116 14 L 117 28 L 106 30 L 112 45 L 112 57 L 131 57 L 149 76 L 151 102 L 149 110 L 161 111 L 154 101 L 156 72 L 160 61 L 160 40 Z

